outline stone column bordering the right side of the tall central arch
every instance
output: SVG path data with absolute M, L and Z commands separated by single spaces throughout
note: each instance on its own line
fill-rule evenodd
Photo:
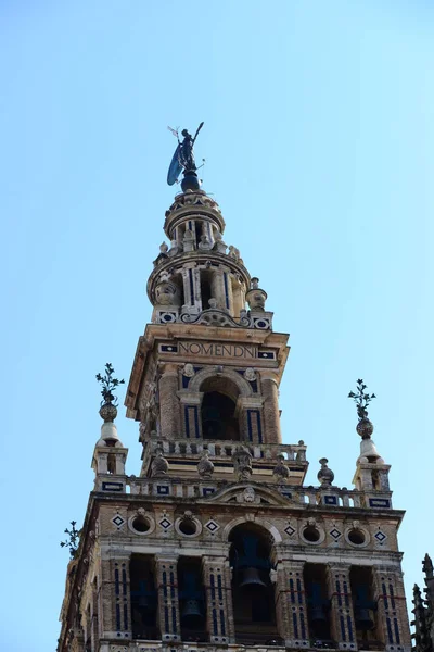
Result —
M 286 648 L 308 648 L 304 562 L 280 560 L 276 577 L 276 619 Z

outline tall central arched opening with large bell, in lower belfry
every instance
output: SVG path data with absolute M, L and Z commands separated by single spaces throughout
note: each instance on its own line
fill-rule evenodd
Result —
M 248 645 L 277 644 L 270 536 L 255 524 L 243 524 L 229 540 L 235 640 Z

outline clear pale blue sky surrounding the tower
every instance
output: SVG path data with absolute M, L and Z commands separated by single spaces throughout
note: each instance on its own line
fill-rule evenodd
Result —
M 407 587 L 434 552 L 431 0 L 2 0 L 0 642 L 55 649 L 97 372 L 128 379 L 174 189 L 167 125 L 291 333 L 286 442 L 350 486 L 358 377 L 392 464 Z M 122 397 L 123 398 L 123 397 Z M 138 427 L 120 412 L 138 474 Z

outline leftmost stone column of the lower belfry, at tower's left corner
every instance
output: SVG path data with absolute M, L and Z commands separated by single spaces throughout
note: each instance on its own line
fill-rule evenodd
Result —
M 102 638 L 131 639 L 129 554 L 103 560 L 101 578 Z

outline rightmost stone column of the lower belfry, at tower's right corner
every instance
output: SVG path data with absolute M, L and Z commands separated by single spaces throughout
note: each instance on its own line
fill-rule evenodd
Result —
M 378 603 L 378 631 L 386 650 L 411 650 L 406 595 L 401 573 L 390 568 L 373 568 L 374 600 Z

